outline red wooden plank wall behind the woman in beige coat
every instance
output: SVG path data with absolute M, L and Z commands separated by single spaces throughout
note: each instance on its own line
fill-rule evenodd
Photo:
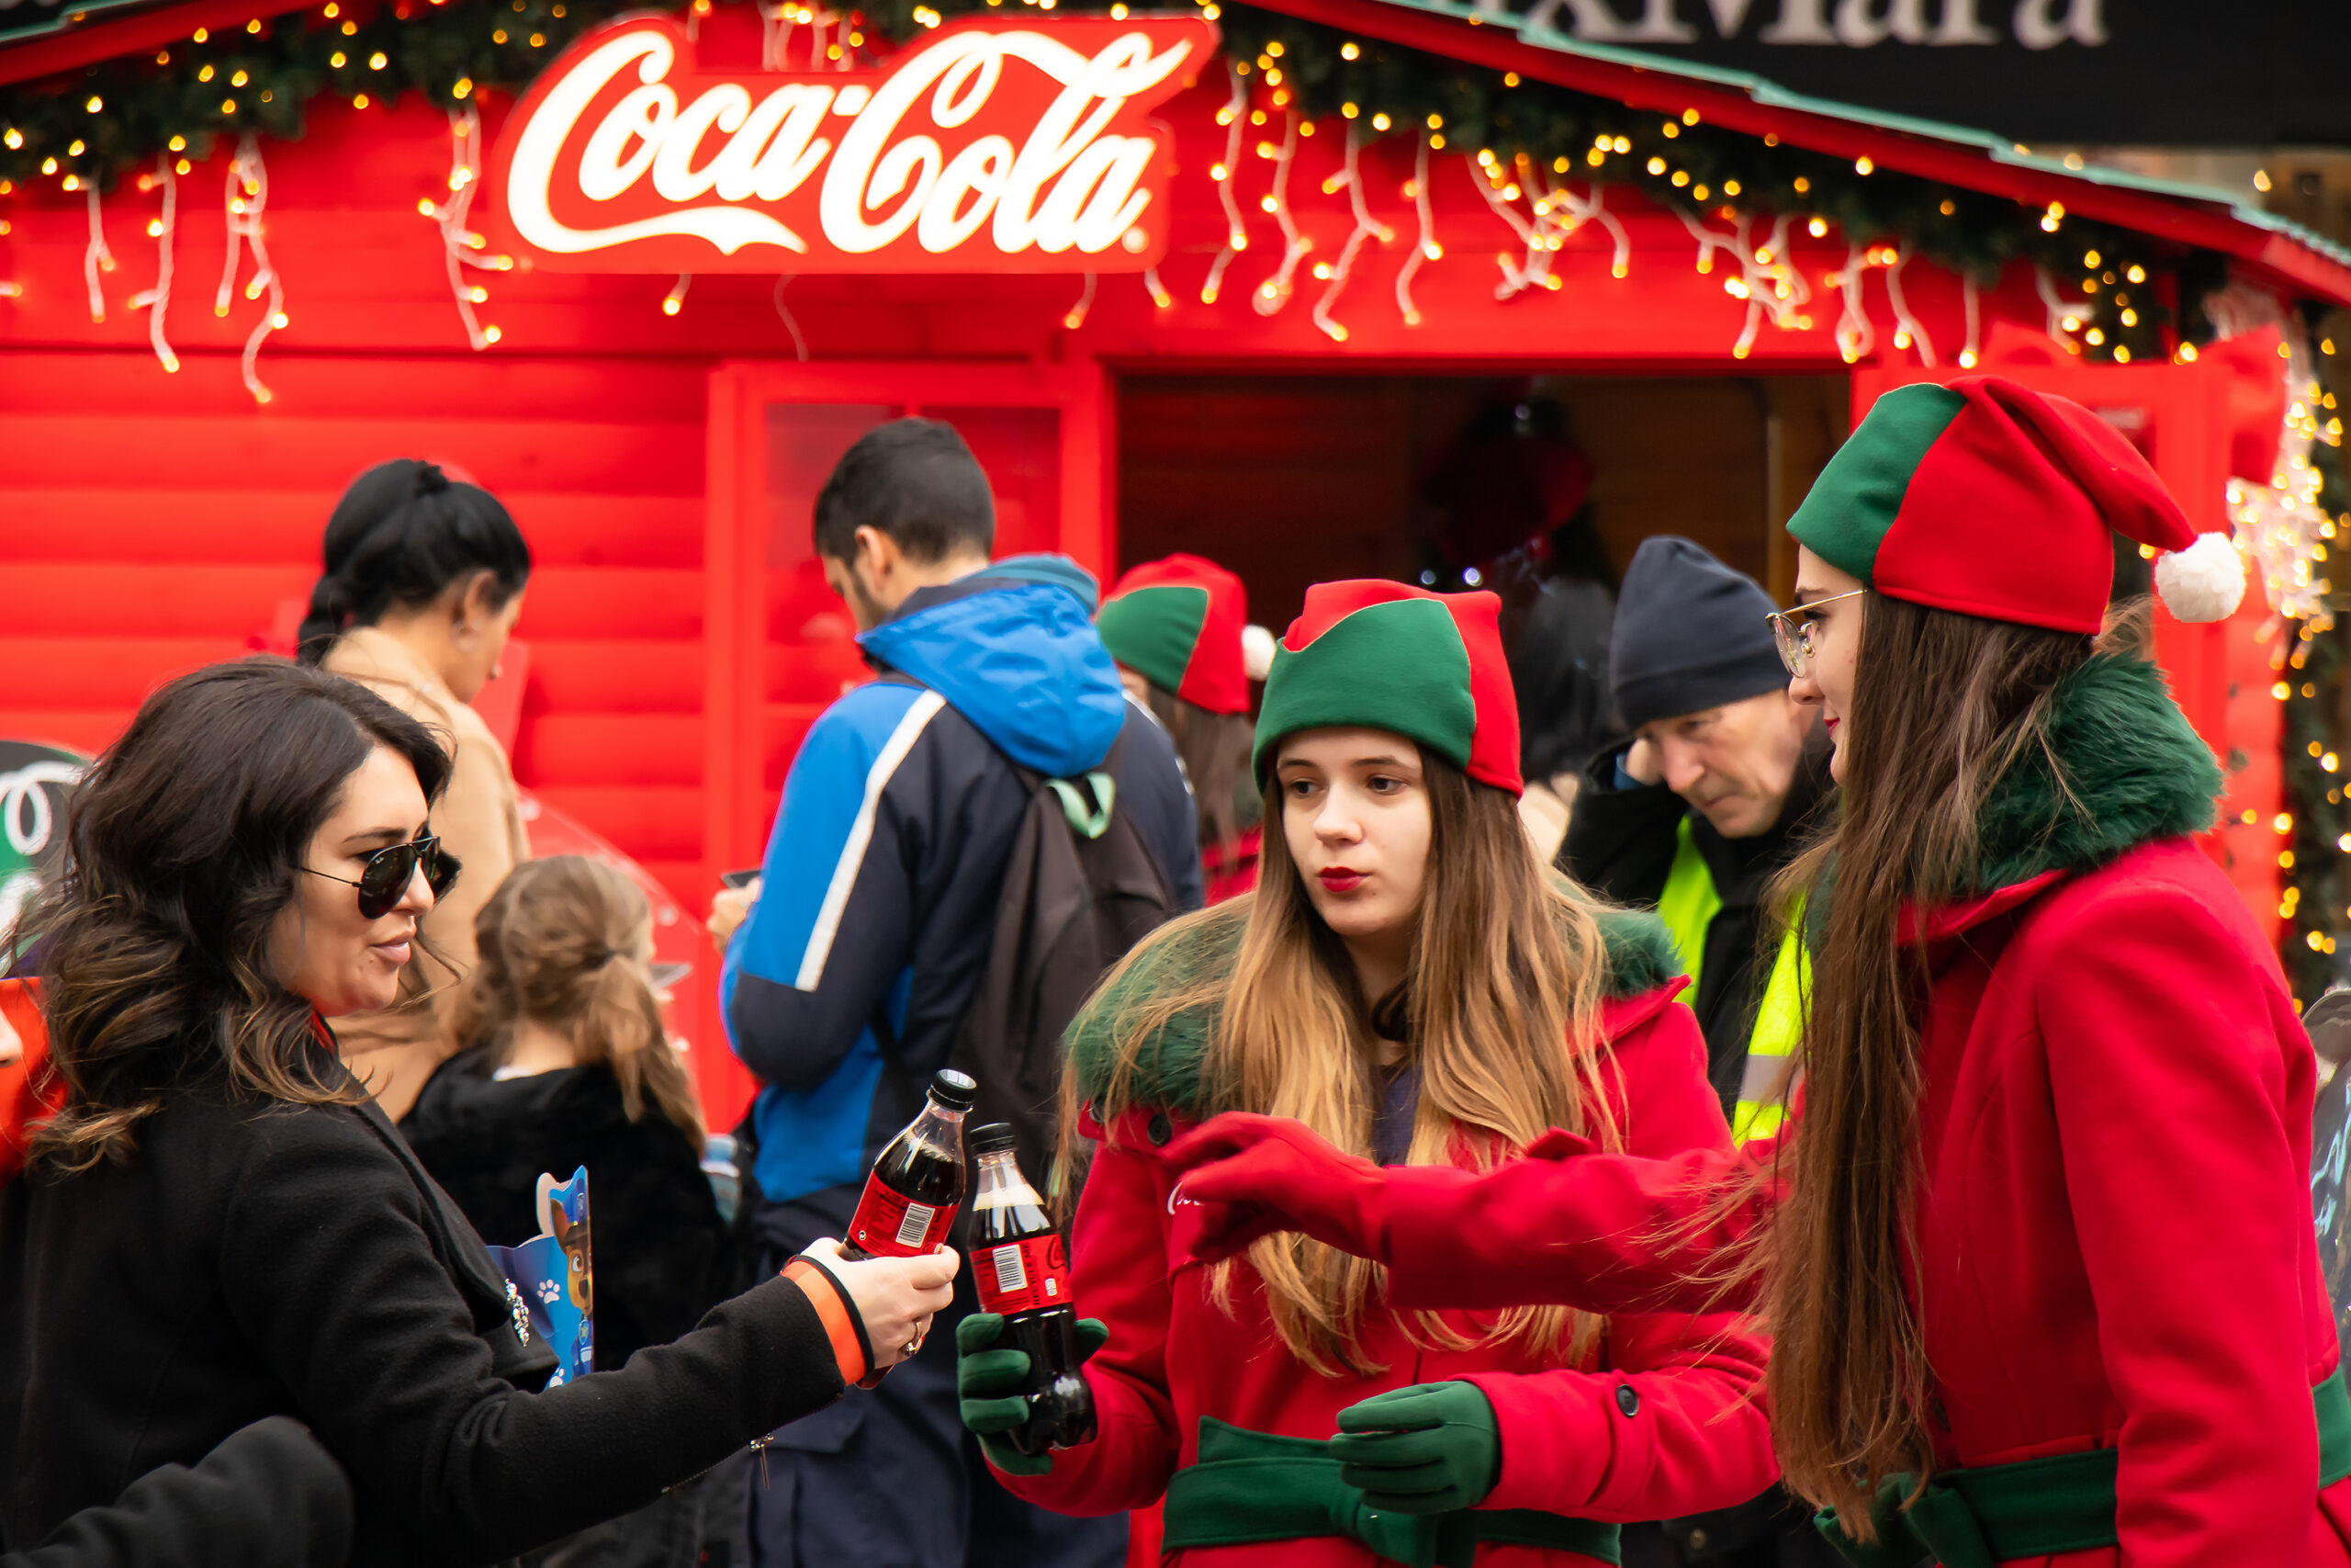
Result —
M 701 844 L 703 397 L 691 360 L 12 353 L 0 376 L 0 733 L 94 750 L 162 679 L 308 599 L 374 461 L 496 491 L 536 569 L 515 776 L 689 910 Z M 628 416 L 600 416 L 628 409 Z

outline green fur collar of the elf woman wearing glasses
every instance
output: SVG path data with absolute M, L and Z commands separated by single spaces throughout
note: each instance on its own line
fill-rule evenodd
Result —
M 2144 658 L 2092 658 L 2050 703 L 2050 759 L 2034 750 L 1984 802 L 1963 893 L 2052 870 L 2090 870 L 2123 851 L 2212 825 L 2222 792 L 2212 748 Z

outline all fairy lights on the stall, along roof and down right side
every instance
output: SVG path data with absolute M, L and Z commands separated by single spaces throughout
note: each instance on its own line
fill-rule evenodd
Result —
M 691 0 L 689 31 L 712 5 Z M 1058 0 L 868 0 L 830 9 L 804 0 L 750 0 L 762 21 L 769 71 L 849 71 L 875 52 L 938 28 L 955 16 L 1056 9 Z M 1448 56 L 1354 38 L 1295 16 L 1194 0 L 1225 35 L 1225 96 L 1215 106 L 1223 155 L 1206 169 L 1225 219 L 1223 242 L 1206 256 L 1197 284 L 1173 277 L 1173 256 L 1140 275 L 1161 310 L 1176 292 L 1206 306 L 1246 296 L 1260 315 L 1312 296 L 1310 320 L 1333 343 L 1349 339 L 1349 284 L 1366 256 L 1396 254 L 1392 303 L 1406 327 L 1422 324 L 1415 282 L 1446 261 L 1436 240 L 1432 188 L 1467 179 L 1507 235 L 1493 254 L 1500 301 L 1563 287 L 1566 249 L 1608 254 L 1613 277 L 1632 266 L 1620 212 L 1622 190 L 1672 212 L 1686 226 L 1700 273 L 1721 275 L 1726 296 L 1744 306 L 1730 353 L 1747 357 L 1766 329 L 1813 331 L 1829 322 L 1843 360 L 1878 353 L 1881 317 L 1871 282 L 1890 317 L 1893 350 L 1923 364 L 1972 367 L 1980 355 L 1980 292 L 2008 268 L 2031 268 L 2048 336 L 2067 353 L 2097 362 L 2189 362 L 2229 315 L 2222 256 L 2069 214 L 2059 202 L 2027 207 L 1878 169 L 1869 158 L 1831 158 L 1679 115 L 1521 80 Z M 0 301 L 21 299 L 9 277 L 12 219 L 5 197 L 54 190 L 78 195 L 89 237 L 82 282 L 92 320 L 106 320 L 122 268 L 108 244 L 108 202 L 143 214 L 155 244 L 153 284 L 122 303 L 146 310 L 150 348 L 169 374 L 179 355 L 167 313 L 174 292 L 174 237 L 181 183 L 195 165 L 228 148 L 221 207 L 228 244 L 214 313 L 249 322 L 240 369 L 256 402 L 263 343 L 289 327 L 287 284 L 268 254 L 268 165 L 263 139 L 294 139 L 306 108 L 334 96 L 357 110 L 388 108 L 416 92 L 449 113 L 447 195 L 421 200 L 442 247 L 451 301 L 475 350 L 501 343 L 484 317 L 491 284 L 517 268 L 491 254 L 473 228 L 482 181 L 484 89 L 515 92 L 574 38 L 642 0 L 324 0 L 275 19 L 228 28 L 193 28 L 150 52 L 101 61 L 47 82 L 0 92 Z M 1079 9 L 1079 7 L 1072 7 Z M 1124 16 L 1126 5 L 1107 7 Z M 1300 148 L 1317 136 L 1342 143 L 1340 167 L 1319 188 L 1293 188 Z M 1385 146 L 1382 146 L 1385 143 Z M 1371 202 L 1380 169 L 1401 174 L 1396 202 Z M 2069 160 L 2071 162 L 2071 160 Z M 1317 254 L 1300 226 L 1300 202 L 1342 205 L 1349 228 L 1335 252 Z M 134 216 L 136 221 L 136 216 Z M 1265 223 L 1272 233 L 1265 233 Z M 118 216 L 120 223 L 120 216 Z M 1251 233 L 1258 223 L 1258 233 Z M 120 228 L 118 228 L 120 233 Z M 1831 240 L 1834 235 L 1834 240 Z M 1270 244 L 1279 240 L 1279 252 Z M 1843 242 L 1838 266 L 1806 275 L 1796 242 Z M 1399 254 L 1401 252 L 1401 254 Z M 1272 256 L 1258 268 L 1260 256 Z M 1956 348 L 1935 343 L 1909 308 L 1904 275 L 1928 261 L 1961 280 L 1963 329 Z M 1237 282 L 1237 270 L 1248 277 Z M 661 296 L 665 315 L 686 308 L 694 275 Z M 809 357 L 799 322 L 785 308 L 790 277 L 773 303 L 799 357 Z M 1086 275 L 1063 315 L 1084 327 L 1098 299 Z M 2288 322 L 2292 327 L 2292 322 Z M 2271 604 L 2264 635 L 2273 649 L 2271 696 L 2285 705 L 2288 811 L 2276 813 L 2278 867 L 2285 877 L 2278 917 L 2288 924 L 2288 959 L 2297 994 L 2311 997 L 2335 973 L 2339 933 L 2351 931 L 2351 811 L 2344 778 L 2346 656 L 2337 628 L 2330 550 L 2351 529 L 2351 484 L 2342 465 L 2342 416 L 2335 339 L 2311 327 L 2288 331 L 2290 414 L 2271 484 L 2231 482 L 2229 508 L 2245 555 L 2257 564 Z M 2339 912 L 2339 914 L 2337 914 Z

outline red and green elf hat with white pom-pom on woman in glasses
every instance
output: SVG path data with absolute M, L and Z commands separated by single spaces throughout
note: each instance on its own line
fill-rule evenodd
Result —
M 2114 534 L 2165 552 L 2156 592 L 2182 621 L 2245 595 L 2229 536 L 2198 534 L 2114 425 L 2005 376 L 1878 397 L 1787 531 L 1888 597 L 2059 632 L 2104 623 Z

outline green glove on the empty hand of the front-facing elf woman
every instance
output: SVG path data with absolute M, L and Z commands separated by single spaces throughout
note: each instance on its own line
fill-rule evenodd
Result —
M 1502 1427 L 1474 1382 L 1415 1382 L 1340 1410 L 1331 1458 L 1375 1512 L 1451 1514 L 1502 1476 Z

